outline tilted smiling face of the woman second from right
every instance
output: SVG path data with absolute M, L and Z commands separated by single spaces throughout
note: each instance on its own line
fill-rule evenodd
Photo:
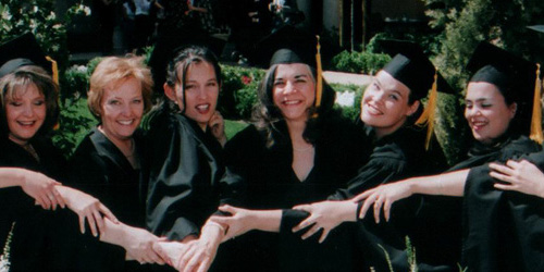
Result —
M 378 137 L 394 133 L 419 107 L 408 103 L 410 89 L 385 71 L 380 71 L 364 90 L 361 120 L 374 127 Z

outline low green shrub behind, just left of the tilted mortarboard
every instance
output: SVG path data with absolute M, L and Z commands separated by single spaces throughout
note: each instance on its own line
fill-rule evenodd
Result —
M 332 70 L 348 73 L 375 74 L 388 61 L 391 61 L 391 57 L 387 54 L 343 51 L 333 58 Z

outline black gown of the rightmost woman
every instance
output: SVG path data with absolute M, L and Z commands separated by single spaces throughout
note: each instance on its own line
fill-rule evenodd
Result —
M 541 150 L 521 136 L 510 140 L 494 160 L 506 162 Z M 523 157 L 537 165 L 542 152 Z M 539 165 L 544 166 L 544 165 Z M 469 271 L 543 271 L 544 201 L 517 191 L 495 189 L 489 164 L 470 170 L 462 203 L 462 267 Z

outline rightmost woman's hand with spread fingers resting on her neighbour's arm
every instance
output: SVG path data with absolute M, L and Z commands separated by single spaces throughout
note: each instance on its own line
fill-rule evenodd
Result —
M 393 202 L 407 198 L 411 195 L 410 185 L 407 182 L 397 182 L 369 189 L 353 198 L 351 201 L 360 202 L 364 200 L 359 213 L 360 219 L 363 219 L 370 206 L 374 205 L 374 220 L 376 223 L 380 223 L 380 212 L 382 211 L 382 206 L 385 220 L 390 221 L 391 206 Z

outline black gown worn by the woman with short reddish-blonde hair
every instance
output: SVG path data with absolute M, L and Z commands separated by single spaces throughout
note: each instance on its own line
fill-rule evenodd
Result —
M 136 156 L 144 160 L 141 132 L 134 134 Z M 140 161 L 144 163 L 144 161 Z M 139 169 L 133 169 L 128 160 L 98 128 L 92 128 L 85 136 L 69 161 L 71 171 L 70 184 L 98 198 L 123 223 L 145 227 L 145 196 Z M 69 265 L 76 270 L 86 271 L 119 271 L 124 267 L 125 250 L 116 245 L 100 242 L 90 235 L 77 230 L 76 214 L 69 214 L 62 224 L 66 243 L 72 244 L 63 250 L 64 255 L 72 256 Z M 139 265 L 139 264 L 138 264 Z

